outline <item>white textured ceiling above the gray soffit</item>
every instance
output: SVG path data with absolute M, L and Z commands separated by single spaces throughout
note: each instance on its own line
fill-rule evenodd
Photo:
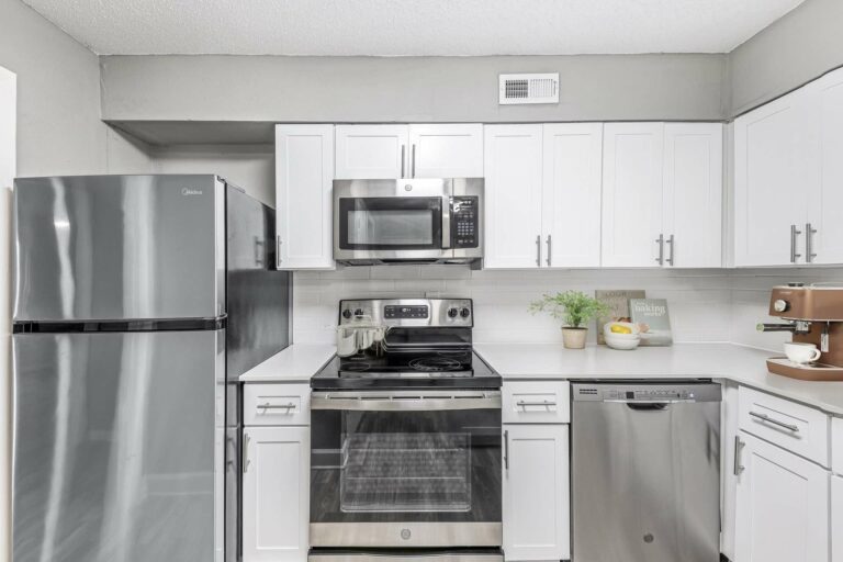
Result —
M 728 53 L 803 0 L 24 0 L 99 54 Z

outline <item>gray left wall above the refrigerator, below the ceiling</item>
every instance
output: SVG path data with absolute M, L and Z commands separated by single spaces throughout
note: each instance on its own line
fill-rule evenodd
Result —
M 0 66 L 18 75 L 18 175 L 104 171 L 97 56 L 19 0 L 0 0 Z

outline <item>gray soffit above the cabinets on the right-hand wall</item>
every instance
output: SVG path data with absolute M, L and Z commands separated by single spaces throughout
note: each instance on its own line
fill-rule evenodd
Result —
M 843 0 L 807 0 L 729 55 L 731 115 L 843 65 Z

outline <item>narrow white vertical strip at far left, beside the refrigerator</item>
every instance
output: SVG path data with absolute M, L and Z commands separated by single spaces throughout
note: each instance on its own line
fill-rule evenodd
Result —
M 0 67 L 0 560 L 9 555 L 9 501 L 11 428 L 11 202 L 15 176 L 15 122 L 18 81 Z

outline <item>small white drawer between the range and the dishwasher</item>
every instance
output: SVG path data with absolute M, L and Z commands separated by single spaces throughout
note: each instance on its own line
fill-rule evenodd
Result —
M 567 424 L 571 385 L 565 381 L 505 382 L 504 424 Z

